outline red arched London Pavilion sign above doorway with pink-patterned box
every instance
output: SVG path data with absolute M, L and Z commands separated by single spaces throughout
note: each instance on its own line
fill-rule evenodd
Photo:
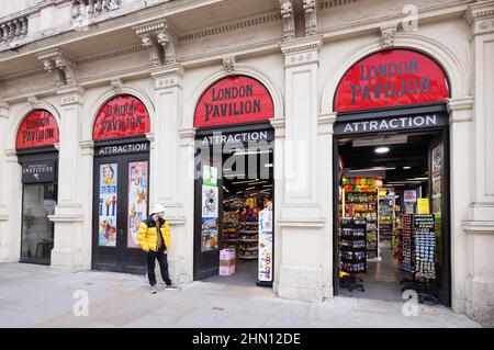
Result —
M 246 76 L 227 77 L 211 86 L 195 108 L 194 126 L 267 121 L 274 116 L 268 89 Z

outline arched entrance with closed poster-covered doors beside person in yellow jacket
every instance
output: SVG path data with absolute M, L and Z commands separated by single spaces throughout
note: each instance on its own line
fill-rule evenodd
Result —
M 148 214 L 149 113 L 130 94 L 106 101 L 94 121 L 92 268 L 144 273 L 137 229 Z

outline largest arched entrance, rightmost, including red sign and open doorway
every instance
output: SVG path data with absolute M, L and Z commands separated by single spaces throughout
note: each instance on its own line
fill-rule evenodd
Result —
M 371 54 L 341 78 L 336 294 L 398 301 L 413 291 L 450 305 L 449 97 L 442 68 L 411 49 Z

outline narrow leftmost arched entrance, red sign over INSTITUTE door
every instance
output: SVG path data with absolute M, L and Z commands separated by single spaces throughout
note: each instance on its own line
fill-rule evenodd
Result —
M 58 124 L 52 113 L 36 110 L 20 124 L 15 138 L 22 166 L 21 262 L 49 264 L 57 204 Z

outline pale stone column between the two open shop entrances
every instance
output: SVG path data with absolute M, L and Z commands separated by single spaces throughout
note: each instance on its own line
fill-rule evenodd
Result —
M 279 295 L 317 301 L 323 298 L 323 255 L 330 255 L 329 247 L 321 245 L 329 232 L 325 230 L 317 195 L 317 75 L 322 45 L 321 36 L 281 44 L 285 57 L 284 189 L 283 203 L 278 205 L 281 247 L 276 257 L 281 259 Z

